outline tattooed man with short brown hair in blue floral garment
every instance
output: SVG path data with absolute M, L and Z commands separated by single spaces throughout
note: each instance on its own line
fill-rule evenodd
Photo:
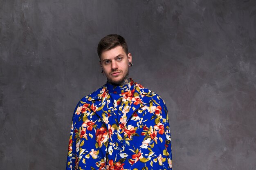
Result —
M 120 35 L 98 44 L 107 83 L 77 104 L 67 170 L 171 170 L 171 136 L 164 101 L 129 78 L 132 55 Z

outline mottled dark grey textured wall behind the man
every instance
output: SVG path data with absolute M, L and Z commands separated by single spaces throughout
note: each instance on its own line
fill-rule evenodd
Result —
M 175 170 L 256 170 L 256 0 L 0 0 L 0 169 L 65 168 L 99 40 L 169 110 Z

